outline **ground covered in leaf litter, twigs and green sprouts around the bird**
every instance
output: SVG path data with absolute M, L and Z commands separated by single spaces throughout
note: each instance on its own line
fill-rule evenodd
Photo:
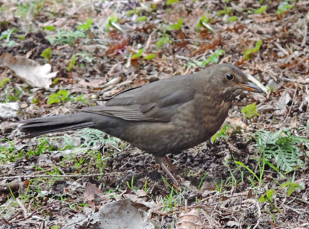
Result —
M 308 10 L 308 1 L 0 0 L 0 102 L 13 110 L 0 114 L 0 228 L 309 228 Z M 216 63 L 241 68 L 264 93 L 238 97 L 212 141 L 169 155 L 180 185 L 103 132 L 18 139 L 18 121 Z

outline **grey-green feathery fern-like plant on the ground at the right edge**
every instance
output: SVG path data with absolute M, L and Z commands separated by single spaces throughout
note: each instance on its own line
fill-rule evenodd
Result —
M 307 168 L 302 158 L 309 157 L 309 139 L 291 135 L 289 129 L 277 132 L 260 129 L 254 134 L 256 146 L 265 151 L 265 159 L 275 159 L 276 165 L 283 171 L 293 171 L 295 167 Z

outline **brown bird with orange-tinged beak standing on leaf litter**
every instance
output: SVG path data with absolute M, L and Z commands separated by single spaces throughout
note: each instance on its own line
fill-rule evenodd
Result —
M 75 114 L 24 120 L 18 128 L 26 133 L 22 138 L 85 127 L 104 131 L 151 153 L 177 182 L 163 163 L 165 154 L 210 139 L 243 90 L 262 93 L 239 68 L 217 64 L 127 89 Z

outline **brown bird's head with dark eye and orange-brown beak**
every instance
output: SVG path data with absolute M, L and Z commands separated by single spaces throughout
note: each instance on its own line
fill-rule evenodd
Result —
M 243 91 L 263 92 L 258 86 L 249 82 L 247 76 L 234 65 L 217 64 L 209 68 L 208 82 L 213 86 L 212 90 L 218 91 L 228 100 L 235 99 Z

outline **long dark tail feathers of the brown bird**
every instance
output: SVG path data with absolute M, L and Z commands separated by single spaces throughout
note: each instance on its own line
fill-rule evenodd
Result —
M 86 112 L 41 117 L 20 121 L 19 123 L 22 124 L 18 127 L 19 130 L 25 133 L 25 136 L 20 137 L 20 139 L 85 127 L 95 127 L 95 122 L 91 119 L 91 115 Z

